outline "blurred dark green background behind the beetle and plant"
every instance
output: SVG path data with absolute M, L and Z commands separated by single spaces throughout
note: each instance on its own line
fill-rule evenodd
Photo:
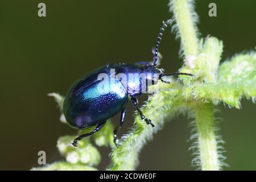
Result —
M 38 3 L 47 6 L 47 17 L 38 17 Z M 210 2 L 217 17 L 208 16 Z M 0 169 L 38 166 L 38 151 L 47 163 L 61 160 L 57 138 L 76 134 L 59 122 L 59 110 L 47 93 L 65 94 L 74 80 L 108 63 L 151 60 L 151 48 L 162 20 L 171 18 L 168 1 L 12 1 L 0 2 L 1 150 Z M 196 1 L 199 30 L 224 41 L 223 60 L 254 49 L 256 1 Z M 181 67 L 179 42 L 167 28 L 160 52 L 161 67 L 175 72 Z M 141 102 L 140 102 L 141 103 Z M 226 170 L 256 169 L 255 105 L 242 101 L 242 110 L 221 104 L 220 123 Z M 125 126 L 133 125 L 129 104 Z M 118 117 L 114 117 L 114 123 Z M 188 119 L 179 117 L 143 148 L 138 169 L 189 170 L 191 142 Z M 123 133 L 126 130 L 123 129 Z M 102 148 L 104 169 L 108 148 Z

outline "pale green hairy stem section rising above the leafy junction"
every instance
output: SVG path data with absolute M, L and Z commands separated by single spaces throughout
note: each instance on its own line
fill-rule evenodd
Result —
M 198 54 L 197 28 L 195 26 L 197 15 L 193 11 L 193 2 L 188 0 L 171 0 L 170 10 L 174 13 L 177 34 L 181 39 L 181 48 L 184 55 Z

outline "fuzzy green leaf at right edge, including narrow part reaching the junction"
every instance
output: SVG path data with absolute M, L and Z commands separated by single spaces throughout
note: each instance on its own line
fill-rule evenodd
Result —
M 204 102 L 220 101 L 229 106 L 240 108 L 240 100 L 256 97 L 256 55 L 255 52 L 234 56 L 225 61 L 218 72 L 217 83 L 195 84 L 183 88 L 183 95 Z

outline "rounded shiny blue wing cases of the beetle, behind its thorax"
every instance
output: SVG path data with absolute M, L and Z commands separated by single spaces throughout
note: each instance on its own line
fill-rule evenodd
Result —
M 78 129 L 106 121 L 121 111 L 129 100 L 121 82 L 115 78 L 110 80 L 110 77 L 92 82 L 82 89 L 71 89 L 66 98 L 65 118 L 69 125 Z

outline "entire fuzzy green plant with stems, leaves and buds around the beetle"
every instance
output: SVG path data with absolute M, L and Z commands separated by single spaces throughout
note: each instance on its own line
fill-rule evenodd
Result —
M 133 170 L 138 166 L 139 153 L 154 133 L 164 127 L 164 123 L 178 114 L 192 118 L 190 150 L 195 158 L 192 164 L 201 170 L 220 170 L 225 166 L 222 155 L 224 142 L 217 134 L 215 112 L 221 103 L 229 107 L 241 108 L 241 99 L 254 102 L 256 96 L 256 53 L 237 53 L 220 64 L 223 51 L 221 40 L 212 36 L 200 38 L 196 24 L 197 14 L 192 0 L 171 0 L 170 11 L 174 14 L 172 31 L 181 42 L 180 57 L 184 64 L 180 72 L 192 73 L 194 78 L 179 76 L 180 82 L 157 85 L 160 92 L 148 98 L 142 107 L 144 115 L 154 121 L 149 127 L 137 114 L 135 125 L 122 136 L 120 146 L 114 147 L 113 126 L 106 126 L 93 136 L 97 146 L 112 148 L 111 164 L 108 170 Z M 152 88 L 154 89 L 154 87 Z M 60 110 L 64 98 L 53 93 Z M 61 117 L 61 121 L 64 118 Z M 82 131 L 87 133 L 88 130 Z M 219 131 L 218 131 L 219 133 Z M 81 134 L 81 133 L 80 133 Z M 65 157 L 65 162 L 56 162 L 36 170 L 96 170 L 101 156 L 89 138 L 81 140 L 76 149 L 69 146 L 75 136 L 60 137 L 57 148 Z

